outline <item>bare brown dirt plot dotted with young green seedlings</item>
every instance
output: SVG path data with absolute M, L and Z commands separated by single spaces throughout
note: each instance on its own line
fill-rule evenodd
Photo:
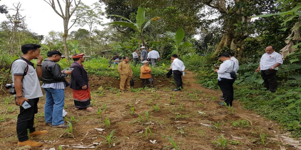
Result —
M 272 121 L 265 120 L 252 111 L 246 111 L 241 105 L 234 101 L 234 112 L 228 108 L 217 105 L 220 91 L 206 89 L 199 84 L 194 83 L 194 74 L 187 71 L 183 77 L 184 89 L 182 91 L 172 92 L 171 87 L 174 83 L 169 81 L 156 80 L 157 85 L 164 83 L 163 87 L 155 90 L 151 89 L 133 89 L 132 91 L 119 93 L 116 87 L 118 82 L 103 81 L 101 78 L 93 78 L 95 86 L 92 88 L 92 105 L 95 109 L 102 108 L 105 105 L 106 110 L 99 116 L 97 113 L 90 113 L 83 110 L 74 111 L 72 93 L 66 90 L 65 110 L 68 112 L 66 119 L 73 124 L 73 135 L 70 138 L 60 135 L 63 130 L 53 129 L 45 125 L 44 122 L 44 102 L 41 98 L 38 104 L 39 113 L 36 115 L 35 123 L 37 130 L 48 130 L 49 134 L 40 137 L 33 137 L 35 141 L 51 141 L 44 143 L 40 148 L 56 148 L 59 145 L 83 144 L 90 145 L 93 142 L 102 142 L 92 149 L 163 149 L 166 146 L 172 146 L 166 136 L 173 139 L 180 150 L 211 150 L 221 149 L 217 146 L 218 136 L 223 135 L 227 141 L 227 148 L 230 149 L 280 149 L 280 142 L 275 135 L 284 133 L 281 126 Z M 136 81 L 135 84 L 138 82 Z M 98 86 L 102 85 L 105 93 L 101 94 Z M 3 95 L 5 97 L 5 95 Z M 4 100 L 4 98 L 3 98 Z M 173 102 L 174 101 L 174 102 Z M 18 149 L 15 131 L 16 116 L 18 107 L 13 104 L 13 100 L 8 105 L 1 106 L 1 116 L 5 116 L 5 121 L 0 122 L 0 142 L 4 145 L 0 149 Z M 155 105 L 159 107 L 156 111 Z M 12 108 L 8 110 L 7 108 Z M 134 112 L 131 113 L 131 108 Z M 149 117 L 146 117 L 146 111 Z M 199 111 L 199 112 L 198 112 Z M 203 113 L 203 114 L 202 114 Z M 142 116 L 139 118 L 139 114 Z M 71 120 L 71 117 L 74 120 Z M 110 126 L 104 124 L 105 118 L 109 118 Z M 245 127 L 234 127 L 232 124 L 241 121 Z M 211 127 L 208 127 L 209 125 Z M 248 127 L 247 127 L 248 126 Z M 148 139 L 145 136 L 145 129 L 149 127 L 153 136 L 148 132 Z M 102 128 L 104 131 L 97 131 L 94 128 Z M 108 143 L 103 142 L 101 136 L 109 135 L 115 131 L 115 147 L 109 148 Z M 143 131 L 143 132 L 142 132 Z M 139 133 L 142 132 L 142 133 Z M 265 143 L 260 140 L 260 134 L 265 133 Z M 152 144 L 149 140 L 157 140 Z M 172 149 L 169 147 L 166 149 Z M 294 149 L 293 147 L 282 147 Z M 76 149 L 64 147 L 63 149 Z

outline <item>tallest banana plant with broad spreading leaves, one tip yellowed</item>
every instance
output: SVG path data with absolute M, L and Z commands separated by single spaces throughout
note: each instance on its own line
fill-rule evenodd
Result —
M 141 43 L 142 43 L 143 46 L 146 46 L 146 43 L 145 43 L 144 37 L 143 37 L 143 30 L 148 25 L 151 24 L 151 21 L 160 19 L 160 17 L 154 17 L 154 18 L 151 18 L 150 20 L 148 20 L 145 23 L 145 9 L 140 7 L 140 6 L 139 6 L 138 11 L 137 11 L 136 23 L 133 23 L 131 20 L 127 19 L 126 17 L 122 17 L 122 16 L 118 16 L 118 15 L 108 15 L 108 16 L 120 17 L 120 18 L 122 18 L 126 21 L 113 21 L 113 22 L 110 22 L 110 23 L 105 23 L 103 25 L 117 24 L 117 25 L 121 25 L 121 26 L 124 26 L 124 27 L 130 27 L 130 28 L 134 29 L 136 32 L 139 33 L 140 38 L 141 38 Z M 142 28 L 143 23 L 145 23 L 145 24 L 144 24 L 144 27 Z

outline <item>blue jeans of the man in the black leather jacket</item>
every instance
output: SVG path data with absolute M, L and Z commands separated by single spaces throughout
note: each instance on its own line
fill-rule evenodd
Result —
M 64 89 L 44 88 L 44 90 L 46 93 L 44 108 L 46 123 L 52 123 L 53 126 L 63 124 L 63 108 L 65 104 Z

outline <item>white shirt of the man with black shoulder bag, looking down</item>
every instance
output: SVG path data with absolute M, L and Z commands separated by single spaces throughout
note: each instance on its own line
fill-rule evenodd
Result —
M 235 63 L 233 60 L 226 60 L 219 66 L 219 70 L 217 71 L 218 78 L 233 79 L 231 78 L 229 72 L 235 71 L 235 73 L 237 73 L 237 70 L 238 70 L 237 63 Z

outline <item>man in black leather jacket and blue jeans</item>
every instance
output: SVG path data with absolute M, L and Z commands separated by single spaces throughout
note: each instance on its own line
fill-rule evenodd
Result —
M 52 124 L 53 128 L 69 127 L 63 120 L 63 107 L 65 101 L 64 89 L 69 86 L 65 80 L 72 71 L 61 71 L 60 61 L 62 53 L 59 51 L 49 51 L 47 59 L 42 63 L 42 88 L 46 93 L 46 102 L 44 108 L 46 124 Z

